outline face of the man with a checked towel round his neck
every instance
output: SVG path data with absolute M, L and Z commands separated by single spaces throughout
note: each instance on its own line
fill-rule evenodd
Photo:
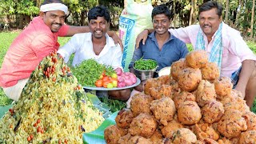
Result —
M 222 18 L 218 17 L 216 8 L 199 14 L 199 25 L 206 36 L 212 37 L 218 30 L 220 22 L 222 22 Z

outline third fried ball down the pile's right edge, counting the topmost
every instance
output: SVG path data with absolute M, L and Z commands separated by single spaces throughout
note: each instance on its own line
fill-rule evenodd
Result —
M 227 94 L 230 94 L 233 84 L 230 78 L 222 77 L 222 78 L 218 78 L 214 82 L 214 87 L 215 87 L 216 94 L 220 96 L 225 96 Z

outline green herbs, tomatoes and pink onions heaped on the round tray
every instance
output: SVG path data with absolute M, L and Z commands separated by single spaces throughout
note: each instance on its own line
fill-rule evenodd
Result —
M 112 66 L 100 64 L 94 59 L 83 61 L 80 65 L 75 66 L 72 71 L 78 77 L 78 82 L 82 86 L 120 88 L 131 86 L 137 82 L 133 73 L 124 73 L 119 67 L 114 70 Z

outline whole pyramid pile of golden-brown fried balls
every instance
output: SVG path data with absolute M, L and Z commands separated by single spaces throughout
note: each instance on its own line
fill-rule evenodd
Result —
M 255 143 L 256 114 L 230 78 L 219 78 L 206 51 L 174 62 L 170 76 L 151 78 L 116 125 L 104 131 L 107 143 Z

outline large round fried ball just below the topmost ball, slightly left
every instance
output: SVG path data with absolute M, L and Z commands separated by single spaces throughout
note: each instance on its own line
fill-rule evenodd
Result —
M 199 82 L 202 80 L 202 74 L 199 69 L 192 69 L 190 67 L 183 69 L 178 74 L 178 85 L 184 91 L 193 91 L 198 88 Z

